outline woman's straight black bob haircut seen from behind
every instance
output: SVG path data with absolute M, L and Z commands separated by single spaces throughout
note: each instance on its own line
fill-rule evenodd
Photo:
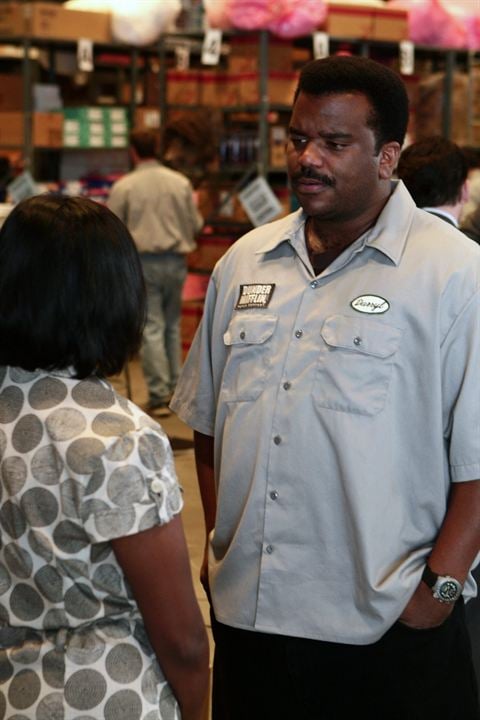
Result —
M 87 198 L 39 195 L 0 230 L 0 365 L 120 372 L 141 343 L 142 269 L 132 237 Z

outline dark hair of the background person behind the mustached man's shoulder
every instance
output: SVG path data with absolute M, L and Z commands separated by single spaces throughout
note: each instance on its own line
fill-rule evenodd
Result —
M 397 175 L 418 207 L 455 205 L 468 176 L 468 163 L 458 145 L 432 136 L 402 151 Z

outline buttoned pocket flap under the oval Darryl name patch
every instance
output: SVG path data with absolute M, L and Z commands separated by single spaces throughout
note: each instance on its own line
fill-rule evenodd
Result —
M 387 358 L 397 351 L 403 330 L 376 318 L 332 315 L 325 320 L 321 334 L 332 348 Z

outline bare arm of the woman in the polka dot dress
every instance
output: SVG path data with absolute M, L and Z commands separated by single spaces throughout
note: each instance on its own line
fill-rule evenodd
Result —
M 209 648 L 180 515 L 165 525 L 113 540 L 112 547 L 182 720 L 200 720 L 208 692 Z

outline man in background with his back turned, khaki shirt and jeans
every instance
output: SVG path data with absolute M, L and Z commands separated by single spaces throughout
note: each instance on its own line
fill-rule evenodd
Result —
M 148 410 L 170 414 L 168 402 L 181 366 L 180 316 L 187 276 L 186 254 L 195 249 L 203 220 L 190 181 L 156 157 L 157 136 L 133 130 L 134 169 L 114 183 L 108 207 L 127 225 L 140 253 L 147 287 L 142 365 Z

